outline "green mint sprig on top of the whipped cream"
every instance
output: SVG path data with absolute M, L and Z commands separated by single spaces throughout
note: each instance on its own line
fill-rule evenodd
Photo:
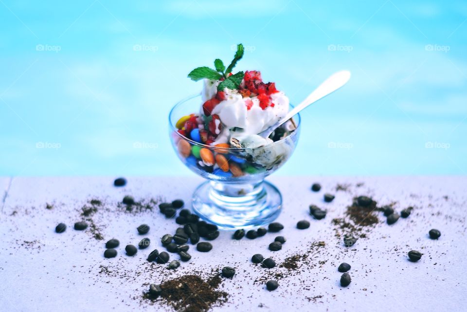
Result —
M 188 78 L 193 81 L 198 81 L 201 79 L 219 80 L 224 78 L 224 80 L 221 81 L 217 86 L 218 91 L 223 91 L 225 88 L 231 90 L 238 89 L 240 87 L 240 83 L 242 82 L 244 73 L 238 72 L 231 76 L 228 76 L 228 74 L 232 72 L 235 65 L 237 65 L 237 62 L 243 57 L 244 51 L 243 44 L 240 43 L 237 45 L 237 51 L 235 52 L 234 59 L 227 67 L 227 69 L 225 68 L 222 60 L 216 58 L 214 60 L 214 67 L 216 68 L 215 70 L 205 66 L 198 67 L 188 74 Z

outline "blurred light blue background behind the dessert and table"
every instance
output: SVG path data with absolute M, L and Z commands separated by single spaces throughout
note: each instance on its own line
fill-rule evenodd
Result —
M 292 103 L 353 74 L 277 174 L 466 174 L 466 20 L 466 1 L 0 0 L 0 175 L 192 174 L 168 112 L 240 42 L 237 69 Z

